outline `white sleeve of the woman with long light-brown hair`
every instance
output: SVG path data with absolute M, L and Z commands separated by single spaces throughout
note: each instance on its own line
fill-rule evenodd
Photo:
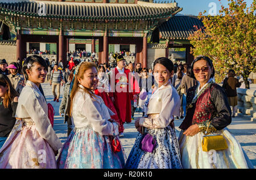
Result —
M 94 131 L 101 135 L 113 135 L 113 125 L 108 119 L 102 118 L 102 109 L 100 104 L 90 97 L 87 97 L 82 104 L 81 113 L 88 119 Z

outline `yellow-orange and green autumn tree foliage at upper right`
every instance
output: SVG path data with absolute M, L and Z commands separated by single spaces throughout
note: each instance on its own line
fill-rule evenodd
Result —
M 194 46 L 191 52 L 213 60 L 217 82 L 233 69 L 247 83 L 250 72 L 256 72 L 256 0 L 250 7 L 243 0 L 228 1 L 229 7 L 221 6 L 220 15 L 206 16 L 200 12 L 205 28 L 189 37 Z

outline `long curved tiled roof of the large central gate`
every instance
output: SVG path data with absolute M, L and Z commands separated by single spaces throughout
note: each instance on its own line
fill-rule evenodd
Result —
M 0 13 L 39 17 L 42 1 L 0 2 Z M 46 18 L 63 19 L 159 19 L 181 11 L 176 3 L 155 4 L 140 2 L 126 3 L 70 3 L 44 1 Z M 41 6 L 43 7 L 43 6 Z M 43 12 L 43 11 L 42 11 Z

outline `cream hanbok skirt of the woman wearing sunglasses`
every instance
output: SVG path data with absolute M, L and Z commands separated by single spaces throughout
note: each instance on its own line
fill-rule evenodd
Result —
M 178 138 L 182 166 L 185 169 L 237 169 L 254 168 L 240 143 L 224 128 L 219 131 L 228 144 L 228 149 L 208 152 L 202 149 L 203 132 L 194 136 L 183 135 L 183 130 Z

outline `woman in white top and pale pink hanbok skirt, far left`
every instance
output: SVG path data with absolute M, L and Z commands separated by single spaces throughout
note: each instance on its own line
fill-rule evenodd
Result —
M 26 86 L 20 93 L 17 120 L 0 149 L 0 168 L 56 168 L 55 156 L 62 147 L 48 118 L 48 106 L 39 89 L 47 74 L 42 57 L 32 55 L 23 64 Z

